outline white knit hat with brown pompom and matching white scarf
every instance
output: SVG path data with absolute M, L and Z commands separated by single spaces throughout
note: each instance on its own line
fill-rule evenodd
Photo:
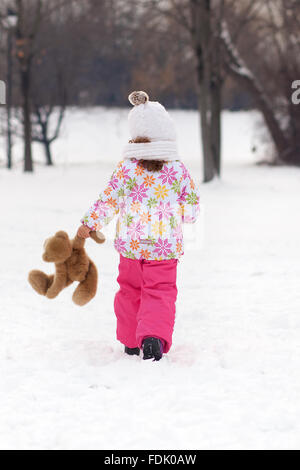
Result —
M 124 158 L 178 160 L 175 125 L 164 106 L 149 101 L 144 91 L 134 91 L 128 99 L 134 106 L 128 115 L 132 140 L 146 137 L 150 142 L 127 144 Z

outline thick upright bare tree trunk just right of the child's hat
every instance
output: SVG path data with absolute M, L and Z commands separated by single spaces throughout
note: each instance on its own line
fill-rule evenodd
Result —
M 152 0 L 158 13 L 180 24 L 189 35 L 196 70 L 204 182 L 221 172 L 222 61 L 220 32 L 223 0 Z

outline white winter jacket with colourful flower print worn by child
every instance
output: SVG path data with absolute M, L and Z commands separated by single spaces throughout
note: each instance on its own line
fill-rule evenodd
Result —
M 150 172 L 122 160 L 81 222 L 101 230 L 119 214 L 115 248 L 126 258 L 163 260 L 183 255 L 182 223 L 196 221 L 199 192 L 179 160 Z

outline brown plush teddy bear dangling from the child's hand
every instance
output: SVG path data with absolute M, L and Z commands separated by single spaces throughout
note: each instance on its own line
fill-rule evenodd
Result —
M 103 243 L 101 232 L 91 232 L 91 238 Z M 70 240 L 66 232 L 57 232 L 44 243 L 43 260 L 55 264 L 55 274 L 48 276 L 42 271 L 30 271 L 28 281 L 40 295 L 54 299 L 65 287 L 78 281 L 73 294 L 77 305 L 87 304 L 97 291 L 97 268 L 84 249 L 85 239 L 77 235 Z

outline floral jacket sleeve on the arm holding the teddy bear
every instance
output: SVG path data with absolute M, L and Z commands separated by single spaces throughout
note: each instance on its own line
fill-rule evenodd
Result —
M 98 199 L 88 209 L 81 223 L 91 230 L 101 230 L 119 212 L 119 198 L 123 193 L 122 162 L 113 172 L 106 188 L 101 191 Z

